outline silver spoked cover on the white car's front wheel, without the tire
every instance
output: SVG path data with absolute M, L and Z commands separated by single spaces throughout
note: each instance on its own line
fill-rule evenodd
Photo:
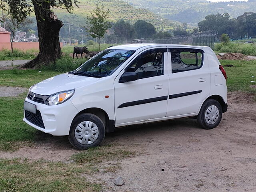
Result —
M 75 129 L 75 137 L 83 145 L 94 143 L 99 136 L 99 129 L 94 122 L 83 121 Z

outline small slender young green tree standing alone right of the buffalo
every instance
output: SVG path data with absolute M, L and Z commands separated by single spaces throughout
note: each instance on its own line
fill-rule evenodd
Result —
M 87 16 L 87 26 L 84 26 L 86 32 L 93 38 L 99 38 L 99 49 L 100 39 L 106 34 L 106 30 L 111 27 L 109 18 L 109 10 L 104 10 L 103 5 L 101 8 L 97 5 L 96 9 L 90 12 L 91 15 Z M 95 14 L 95 15 L 94 15 Z

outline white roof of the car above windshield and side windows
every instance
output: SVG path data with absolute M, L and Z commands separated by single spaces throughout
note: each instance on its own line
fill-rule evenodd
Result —
M 159 46 L 174 46 L 174 47 L 191 47 L 191 48 L 205 48 L 206 46 L 193 46 L 193 45 L 180 45 L 180 44 L 160 44 L 160 43 L 134 43 L 134 44 L 124 44 L 112 46 L 107 49 L 122 49 L 122 50 L 138 50 L 140 48 L 152 48 Z

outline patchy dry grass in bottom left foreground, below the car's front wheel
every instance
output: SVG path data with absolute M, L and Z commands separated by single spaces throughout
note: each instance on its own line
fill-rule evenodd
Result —
M 0 159 L 0 192 L 100 192 L 101 183 L 88 182 L 86 175 L 99 171 L 99 168 L 115 172 L 120 169 L 118 164 L 99 167 L 98 163 L 128 158 L 133 154 L 102 146 L 72 156 L 74 162 L 70 163 Z

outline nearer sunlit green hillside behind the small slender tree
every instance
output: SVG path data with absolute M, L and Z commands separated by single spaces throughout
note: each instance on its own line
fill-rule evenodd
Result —
M 96 5 L 103 5 L 105 9 L 110 10 L 110 20 L 116 22 L 123 18 L 133 24 L 138 19 L 152 23 L 156 28 L 173 29 L 180 26 L 180 23 L 162 18 L 156 13 L 144 8 L 135 8 L 127 2 L 121 0 L 80 0 L 78 7 L 74 7 L 73 14 L 68 14 L 66 10 L 56 8 L 55 14 L 63 21 L 64 26 L 60 30 L 60 36 L 67 38 L 69 36 L 68 23 L 70 22 L 71 36 L 77 38 L 81 36 L 82 26 L 86 24 L 86 15 L 96 8 Z M 69 20 L 69 22 L 68 22 Z

